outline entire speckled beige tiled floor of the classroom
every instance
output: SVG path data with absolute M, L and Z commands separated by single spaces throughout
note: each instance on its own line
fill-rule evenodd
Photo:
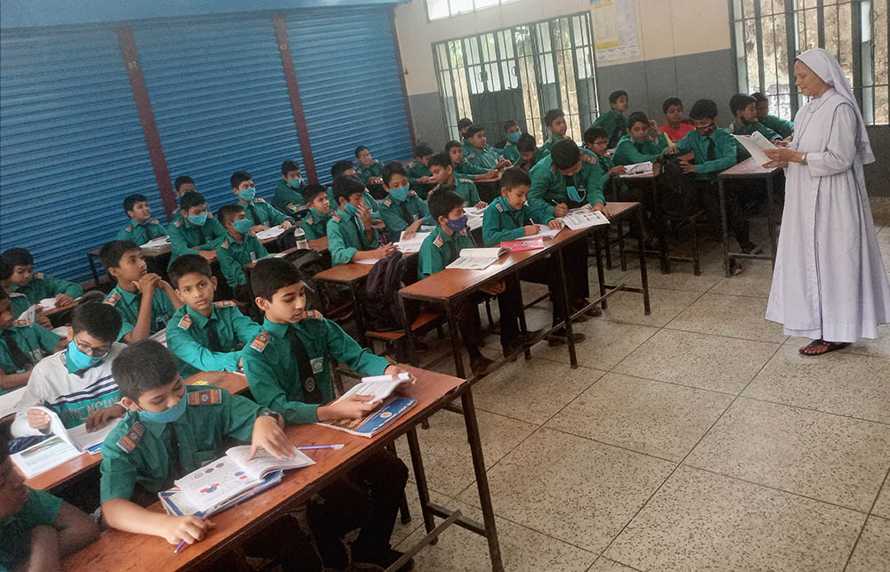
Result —
M 875 213 L 887 259 L 890 208 Z M 801 357 L 764 319 L 769 262 L 724 278 L 719 247 L 706 251 L 700 277 L 650 262 L 651 316 L 618 294 L 579 324 L 577 369 L 539 344 L 474 387 L 507 570 L 890 571 L 890 326 Z M 608 274 L 639 281 L 633 263 Z M 529 312 L 532 327 L 548 319 Z M 419 436 L 433 500 L 481 520 L 463 419 L 431 423 Z M 423 536 L 412 511 L 395 540 Z M 489 568 L 485 540 L 459 528 L 415 560 Z

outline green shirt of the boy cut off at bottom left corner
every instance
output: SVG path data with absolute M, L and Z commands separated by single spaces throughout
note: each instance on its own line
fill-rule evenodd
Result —
M 31 554 L 31 531 L 45 525 L 52 527 L 61 509 L 61 498 L 28 487 L 28 498 L 19 512 L 0 520 L 0 570 L 12 570 Z

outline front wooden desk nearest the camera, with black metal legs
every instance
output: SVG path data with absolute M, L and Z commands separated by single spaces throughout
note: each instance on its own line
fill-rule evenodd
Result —
M 491 569 L 497 572 L 503 571 L 504 566 L 501 562 L 494 510 L 491 506 L 488 476 L 482 457 L 479 426 L 470 384 L 456 377 L 428 372 L 415 367 L 406 367 L 406 369 L 417 377 L 417 384 L 406 391 L 409 397 L 417 399 L 417 406 L 373 439 L 353 436 L 320 425 L 291 425 L 287 427 L 287 436 L 295 445 L 344 443 L 345 447 L 338 450 L 310 451 L 309 455 L 316 462 L 314 465 L 296 471 L 286 471 L 284 479 L 278 486 L 214 516 L 213 521 L 216 527 L 208 533 L 202 542 L 191 544 L 179 554 L 174 554 L 174 546 L 167 544 L 163 538 L 158 536 L 134 535 L 109 529 L 103 532 L 95 543 L 67 558 L 63 567 L 70 572 L 77 570 L 93 572 L 97 569 L 149 572 L 151 570 L 201 568 L 206 566 L 211 559 L 236 547 L 252 533 L 281 515 L 293 511 L 295 505 L 308 501 L 313 494 L 326 487 L 339 475 L 351 470 L 368 459 L 370 455 L 374 455 L 386 447 L 388 443 L 392 442 L 392 439 L 407 433 L 427 533 L 433 532 L 435 529 L 436 535 L 438 535 L 441 528 L 453 523 L 481 536 L 486 536 L 489 542 Z M 423 458 L 417 439 L 417 425 L 457 397 L 461 399 L 463 405 L 467 440 L 473 455 L 473 469 L 475 470 L 484 523 L 457 516 L 449 509 L 433 504 L 430 501 L 429 489 L 426 485 Z M 160 503 L 152 504 L 149 510 L 164 512 Z M 440 525 L 440 528 L 436 528 L 434 521 L 436 516 L 447 519 Z M 430 544 L 432 540 L 433 536 L 428 534 L 407 554 L 413 556 L 425 544 Z

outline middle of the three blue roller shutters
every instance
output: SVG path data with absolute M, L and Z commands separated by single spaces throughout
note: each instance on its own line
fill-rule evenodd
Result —
M 274 194 L 300 164 L 271 15 L 137 22 L 134 39 L 171 177 L 190 175 L 215 211 L 235 202 L 231 173 Z

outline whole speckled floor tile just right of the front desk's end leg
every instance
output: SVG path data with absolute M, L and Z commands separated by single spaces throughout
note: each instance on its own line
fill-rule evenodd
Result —
M 495 512 L 600 552 L 674 468 L 640 455 L 540 429 L 489 471 Z M 475 488 L 460 495 L 477 505 Z

